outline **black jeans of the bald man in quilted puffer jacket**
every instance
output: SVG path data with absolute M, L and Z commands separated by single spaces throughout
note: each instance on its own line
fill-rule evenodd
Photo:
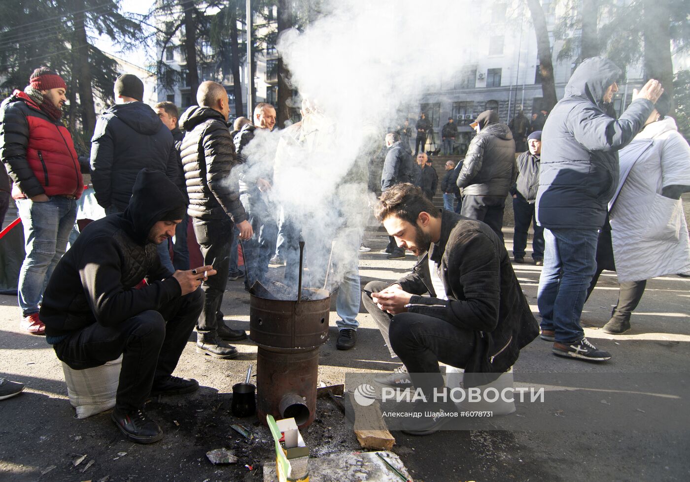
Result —
M 218 328 L 218 315 L 223 303 L 223 294 L 228 284 L 230 272 L 230 246 L 233 243 L 233 222 L 230 219 L 211 219 L 204 221 L 194 218 L 194 234 L 204 257 L 204 265 L 212 265 L 216 274 L 201 283 L 206 293 L 204 310 L 197 323 L 200 333 L 215 332 Z M 222 314 L 220 315 L 222 319 Z

